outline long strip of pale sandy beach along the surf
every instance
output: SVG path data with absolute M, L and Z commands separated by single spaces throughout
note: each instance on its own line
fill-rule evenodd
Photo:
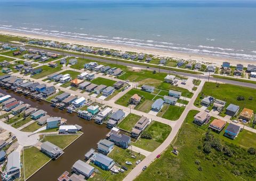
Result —
M 193 60 L 196 62 L 204 62 L 204 63 L 208 62 L 208 63 L 213 63 L 216 65 L 221 65 L 223 61 L 229 61 L 231 63 L 231 65 L 234 65 L 234 66 L 236 66 L 236 64 L 238 64 L 238 63 L 242 63 L 245 66 L 247 66 L 247 64 L 255 63 L 255 61 L 251 61 L 251 60 L 239 60 L 239 59 L 231 59 L 231 58 L 227 58 L 227 57 L 219 57 L 219 56 L 211 56 L 211 55 L 166 51 L 166 50 L 161 50 L 161 49 L 157 49 L 157 48 L 148 48 L 148 47 L 140 47 L 140 46 L 127 46 L 127 45 L 121 45 L 121 44 L 106 44 L 106 43 L 101 43 L 101 42 L 91 42 L 91 41 L 79 40 L 79 39 L 73 39 L 73 38 L 63 38 L 63 37 L 57 37 L 57 36 L 44 36 L 44 35 L 39 35 L 39 34 L 27 34 L 26 32 L 0 30 L 0 34 L 28 37 L 28 38 L 41 39 L 41 40 L 52 40 L 55 42 L 77 44 L 77 45 L 83 45 L 83 46 L 109 48 L 109 49 L 123 51 L 123 52 L 129 51 L 129 52 L 152 54 L 155 56 L 163 56 L 163 57 L 168 56 L 168 57 L 173 57 L 174 59 Z

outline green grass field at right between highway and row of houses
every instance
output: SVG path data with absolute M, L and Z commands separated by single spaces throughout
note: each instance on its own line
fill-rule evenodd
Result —
M 214 98 L 218 98 L 219 100 L 226 101 L 226 105 L 232 103 L 235 105 L 239 105 L 241 110 L 243 108 L 248 108 L 256 112 L 256 93 L 254 88 L 241 87 L 230 84 L 205 83 L 201 94 L 198 95 L 194 103 L 196 106 L 199 106 L 198 104 L 200 104 L 202 100 L 202 93 L 205 96 L 209 95 L 213 96 Z M 239 95 L 244 96 L 245 100 L 237 101 L 237 97 Z M 249 100 L 250 96 L 253 97 L 253 100 Z

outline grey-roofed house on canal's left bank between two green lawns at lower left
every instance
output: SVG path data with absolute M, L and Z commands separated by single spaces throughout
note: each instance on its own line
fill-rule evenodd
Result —
M 41 145 L 41 152 L 52 159 L 57 159 L 61 154 L 63 154 L 63 151 L 58 146 L 50 142 L 44 142 Z

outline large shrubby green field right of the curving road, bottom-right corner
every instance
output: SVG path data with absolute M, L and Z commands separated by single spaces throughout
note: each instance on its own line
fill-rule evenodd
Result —
M 234 152 L 231 158 L 213 149 L 210 154 L 202 151 L 205 130 L 187 122 L 193 119 L 195 114 L 194 110 L 189 112 L 171 146 L 135 180 L 152 180 L 152 178 L 153 180 L 253 180 L 255 178 L 255 172 L 246 171 L 254 168 L 255 155 L 249 155 L 246 150 L 236 149 L 240 152 Z M 178 147 L 178 156 L 172 153 L 173 146 Z M 229 146 L 234 147 L 234 145 Z M 195 160 L 200 161 L 199 165 L 195 164 Z M 202 167 L 202 171 L 198 170 L 199 166 Z M 238 168 L 241 175 L 235 176 L 232 171 Z

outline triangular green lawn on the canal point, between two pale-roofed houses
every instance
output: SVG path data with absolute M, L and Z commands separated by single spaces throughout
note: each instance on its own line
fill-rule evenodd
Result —
M 54 145 L 59 146 L 61 149 L 65 149 L 71 142 L 73 142 L 76 138 L 80 135 L 51 135 L 51 136 L 44 136 L 42 142 L 51 142 Z

